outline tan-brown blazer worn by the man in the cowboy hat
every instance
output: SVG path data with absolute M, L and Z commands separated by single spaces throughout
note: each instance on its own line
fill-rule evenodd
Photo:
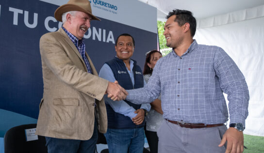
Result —
M 36 135 L 87 140 L 94 131 L 96 101 L 98 129 L 107 130 L 103 95 L 108 81 L 100 78 L 86 54 L 92 74 L 76 46 L 61 28 L 40 38 L 44 83 Z

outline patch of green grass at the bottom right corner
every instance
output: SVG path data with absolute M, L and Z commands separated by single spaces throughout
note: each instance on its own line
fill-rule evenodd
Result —
M 264 137 L 244 135 L 243 153 L 264 153 Z

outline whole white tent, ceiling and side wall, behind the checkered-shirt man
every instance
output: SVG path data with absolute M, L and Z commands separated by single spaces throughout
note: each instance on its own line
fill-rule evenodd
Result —
M 158 9 L 192 11 L 198 44 L 222 47 L 244 74 L 249 89 L 245 134 L 264 136 L 264 0 L 140 0 Z M 228 102 L 227 102 L 228 103 Z

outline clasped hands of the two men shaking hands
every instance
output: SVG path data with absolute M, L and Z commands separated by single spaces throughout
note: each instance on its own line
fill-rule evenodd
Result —
M 108 98 L 111 98 L 114 101 L 125 100 L 128 95 L 128 92 L 124 88 L 122 88 L 116 80 L 115 82 L 109 81 L 105 93 L 108 94 Z

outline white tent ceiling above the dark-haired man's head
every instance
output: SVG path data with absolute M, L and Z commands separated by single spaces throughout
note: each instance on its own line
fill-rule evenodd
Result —
M 173 9 L 188 10 L 197 19 L 222 15 L 234 11 L 264 5 L 264 0 L 139 0 L 157 8 L 159 21 Z

